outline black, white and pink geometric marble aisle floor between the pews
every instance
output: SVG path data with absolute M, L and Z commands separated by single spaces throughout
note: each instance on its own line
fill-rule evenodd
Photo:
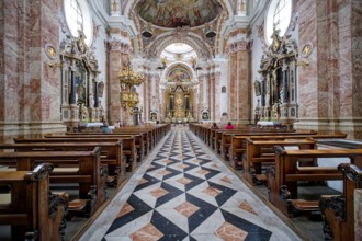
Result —
M 173 127 L 80 240 L 301 240 L 186 127 Z

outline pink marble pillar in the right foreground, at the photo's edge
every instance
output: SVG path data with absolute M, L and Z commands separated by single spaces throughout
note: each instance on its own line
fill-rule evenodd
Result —
M 340 130 L 362 138 L 362 2 L 298 1 L 298 44 L 313 46 L 298 67 L 299 119 L 295 128 Z

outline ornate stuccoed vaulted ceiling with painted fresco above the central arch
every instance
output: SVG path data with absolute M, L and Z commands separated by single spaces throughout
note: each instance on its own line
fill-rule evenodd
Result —
M 239 9 L 245 15 L 238 15 Z M 260 5 L 258 0 L 122 0 L 121 14 L 132 21 L 135 54 L 147 59 L 159 58 L 170 44 L 184 43 L 199 59 L 212 59 L 225 51 L 228 33 L 246 28 L 251 16 L 248 4 Z M 128 24 L 124 22 L 122 24 Z M 150 35 L 140 33 L 150 30 Z M 215 36 L 206 36 L 213 30 Z

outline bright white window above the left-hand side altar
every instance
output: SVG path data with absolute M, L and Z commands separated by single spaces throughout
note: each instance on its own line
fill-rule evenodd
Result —
M 93 41 L 93 23 L 86 1 L 64 0 L 64 10 L 70 34 L 78 37 L 82 31 L 86 44 L 90 46 Z

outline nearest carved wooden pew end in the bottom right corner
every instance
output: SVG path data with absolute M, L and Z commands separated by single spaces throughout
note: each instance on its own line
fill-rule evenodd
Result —
M 354 240 L 354 190 L 362 188 L 362 170 L 353 164 L 342 163 L 338 170 L 343 174 L 343 194 L 321 198 L 319 208 L 324 218 L 326 240 Z

